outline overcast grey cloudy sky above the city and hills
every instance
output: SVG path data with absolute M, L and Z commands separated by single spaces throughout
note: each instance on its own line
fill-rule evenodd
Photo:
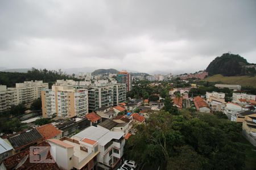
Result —
M 0 1 L 0 67 L 192 73 L 256 63 L 256 1 Z

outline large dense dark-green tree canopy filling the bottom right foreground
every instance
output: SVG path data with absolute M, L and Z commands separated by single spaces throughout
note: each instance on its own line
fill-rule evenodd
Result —
M 159 111 L 137 125 L 125 157 L 144 169 L 242 169 L 241 125 L 210 114 L 174 116 Z M 154 167 L 154 168 L 152 168 Z

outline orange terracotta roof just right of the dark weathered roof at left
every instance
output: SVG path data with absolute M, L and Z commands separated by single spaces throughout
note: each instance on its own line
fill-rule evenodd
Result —
M 36 129 L 44 137 L 45 140 L 54 138 L 57 135 L 62 133 L 59 129 L 55 128 L 55 126 L 53 126 L 52 124 L 46 124 L 43 126 L 39 126 Z

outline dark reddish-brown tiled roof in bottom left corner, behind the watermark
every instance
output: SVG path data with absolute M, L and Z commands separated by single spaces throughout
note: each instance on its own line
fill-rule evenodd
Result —
M 39 145 L 36 146 L 50 146 L 49 143 L 46 141 L 39 143 Z M 22 159 L 24 159 L 28 154 L 30 153 L 30 148 L 27 148 L 26 150 L 23 150 L 19 152 L 18 154 L 15 154 L 13 156 L 10 156 L 9 158 L 6 158 L 3 160 L 3 164 L 7 169 L 15 169 L 15 167 L 20 163 Z M 52 156 L 50 152 L 48 152 L 47 159 L 52 159 Z M 17 168 L 19 170 L 21 169 L 60 169 L 56 163 L 30 163 L 29 157 L 26 159 L 26 161 Z

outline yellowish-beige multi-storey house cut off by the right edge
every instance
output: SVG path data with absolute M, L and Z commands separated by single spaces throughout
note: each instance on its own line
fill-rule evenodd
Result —
M 243 135 L 254 146 L 256 146 L 256 114 L 249 114 L 243 120 Z

